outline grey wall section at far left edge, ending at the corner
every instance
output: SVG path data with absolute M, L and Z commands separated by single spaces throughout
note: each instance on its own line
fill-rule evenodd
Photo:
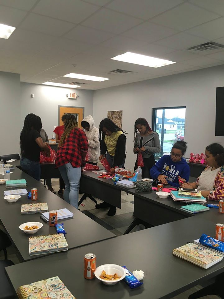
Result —
M 0 155 L 19 153 L 20 74 L 0 72 Z

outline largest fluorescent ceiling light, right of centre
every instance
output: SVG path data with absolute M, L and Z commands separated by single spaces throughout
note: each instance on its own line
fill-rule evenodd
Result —
M 173 61 L 155 58 L 155 57 L 146 56 L 146 55 L 141 55 L 141 54 L 136 54 L 136 53 L 131 53 L 131 52 L 126 52 L 122 55 L 118 55 L 118 56 L 115 56 L 110 59 L 129 62 L 129 63 L 133 63 L 133 64 L 150 66 L 152 68 L 159 68 L 164 65 L 175 63 Z

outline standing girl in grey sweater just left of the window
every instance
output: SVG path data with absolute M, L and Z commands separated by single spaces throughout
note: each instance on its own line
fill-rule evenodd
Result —
M 138 118 L 135 121 L 133 151 L 137 154 L 134 170 L 138 168 L 138 154 L 142 153 L 144 162 L 142 178 L 150 178 L 150 169 L 155 165 L 154 153 L 160 153 L 161 146 L 158 133 L 152 131 L 145 118 Z

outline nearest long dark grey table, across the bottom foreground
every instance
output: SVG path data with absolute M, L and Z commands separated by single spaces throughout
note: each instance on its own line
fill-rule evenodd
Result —
M 224 271 L 224 260 L 205 270 L 172 255 L 173 249 L 198 239 L 202 233 L 214 232 L 212 222 L 192 217 L 10 266 L 6 273 L 15 290 L 57 275 L 77 299 L 171 298 Z M 108 287 L 96 278 L 86 280 L 86 253 L 96 254 L 96 266 L 115 263 L 126 265 L 130 271 L 141 269 L 145 272 L 143 285 L 132 290 L 124 281 Z

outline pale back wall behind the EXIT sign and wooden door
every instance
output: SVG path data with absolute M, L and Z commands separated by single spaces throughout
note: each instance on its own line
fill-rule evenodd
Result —
M 76 100 L 68 99 L 66 94 L 76 92 Z M 31 94 L 34 98 L 31 98 Z M 28 113 L 35 113 L 42 120 L 43 129 L 49 139 L 54 126 L 58 126 L 58 106 L 84 107 L 84 115 L 93 114 L 93 91 L 74 88 L 54 87 L 21 82 L 21 124 Z

